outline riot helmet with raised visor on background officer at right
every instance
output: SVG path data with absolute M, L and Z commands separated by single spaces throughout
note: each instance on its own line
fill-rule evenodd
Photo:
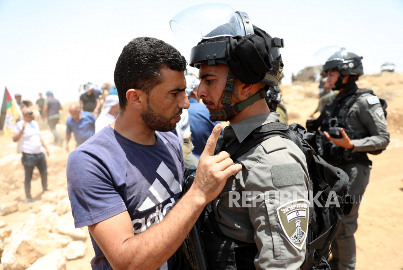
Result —
M 323 65 L 322 71 L 326 73 L 332 70 L 340 71 L 336 88 L 333 88 L 334 90 L 339 90 L 346 86 L 346 84 L 342 84 L 346 75 L 353 75 L 358 78 L 364 74 L 364 68 L 361 62 L 363 57 L 353 52 L 347 52 L 345 48 L 329 46 L 315 52 L 314 57 L 320 65 Z

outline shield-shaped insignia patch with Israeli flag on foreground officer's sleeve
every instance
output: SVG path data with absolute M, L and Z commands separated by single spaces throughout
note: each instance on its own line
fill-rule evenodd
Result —
M 309 218 L 309 201 L 294 200 L 277 208 L 281 228 L 294 247 L 301 250 L 306 240 Z

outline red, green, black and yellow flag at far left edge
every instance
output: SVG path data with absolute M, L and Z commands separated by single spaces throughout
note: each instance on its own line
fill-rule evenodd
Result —
M 16 101 L 13 100 L 6 87 L 0 114 L 0 129 L 4 130 L 4 137 L 14 132 L 16 120 L 20 116 L 21 112 L 19 108 L 17 108 Z

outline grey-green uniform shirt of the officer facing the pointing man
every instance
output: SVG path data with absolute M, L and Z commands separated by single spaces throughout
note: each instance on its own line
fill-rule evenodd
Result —
M 230 125 L 224 129 L 224 144 L 228 146 L 233 140 L 242 142 L 254 129 L 278 119 L 278 113 L 267 113 Z M 305 258 L 309 204 L 306 201 L 309 174 L 304 154 L 291 140 L 275 136 L 256 145 L 236 162 L 242 165 L 242 170 L 228 178 L 213 202 L 218 227 L 228 237 L 256 243 L 256 269 L 299 269 Z M 252 198 L 245 195 L 252 201 L 242 204 L 239 199 L 237 207 L 235 203 L 230 205 L 234 191 L 263 192 L 265 196 L 259 202 L 254 193 Z M 289 192 L 290 197 L 281 191 Z M 301 218 L 293 216 L 296 212 L 290 209 L 299 210 Z M 300 237 L 296 239 L 298 231 Z

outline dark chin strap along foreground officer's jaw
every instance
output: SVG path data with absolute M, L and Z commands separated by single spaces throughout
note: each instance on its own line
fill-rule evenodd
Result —
M 218 109 L 209 110 L 210 120 L 212 121 L 228 121 L 234 117 L 235 114 L 249 107 L 254 102 L 264 99 L 266 97 L 266 90 L 261 89 L 252 97 L 247 98 L 244 101 L 239 101 L 234 96 L 236 77 L 228 70 L 227 82 L 225 83 L 225 89 L 222 92 L 222 96 L 218 101 Z

